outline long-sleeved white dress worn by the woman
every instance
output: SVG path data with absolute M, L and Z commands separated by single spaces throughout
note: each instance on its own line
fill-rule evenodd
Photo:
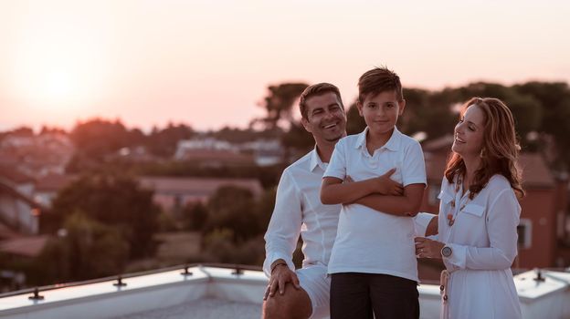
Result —
M 449 274 L 442 318 L 521 318 L 511 265 L 517 255 L 521 214 L 514 191 L 502 175 L 469 200 L 462 186 L 444 177 L 439 194 L 439 242 L 452 249 L 444 258 Z M 454 216 L 449 226 L 448 214 Z

